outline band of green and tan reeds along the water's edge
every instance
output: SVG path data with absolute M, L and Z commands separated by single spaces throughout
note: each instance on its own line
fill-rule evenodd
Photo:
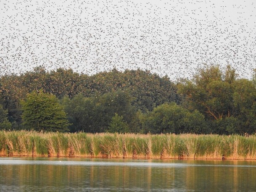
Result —
M 256 135 L 0 131 L 0 155 L 256 160 Z

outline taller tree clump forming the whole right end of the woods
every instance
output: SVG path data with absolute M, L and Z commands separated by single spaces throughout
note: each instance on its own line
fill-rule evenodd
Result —
M 256 87 L 253 81 L 237 79 L 235 69 L 218 66 L 201 69 L 192 80 L 178 84 L 184 106 L 199 110 L 217 134 L 255 133 Z

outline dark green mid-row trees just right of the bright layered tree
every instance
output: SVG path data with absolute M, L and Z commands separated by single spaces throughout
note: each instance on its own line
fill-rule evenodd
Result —
M 81 94 L 73 99 L 65 97 L 62 101 L 68 114 L 71 132 L 105 132 L 116 114 L 123 116 L 127 124 L 134 123 L 135 108 L 131 105 L 132 97 L 122 90 L 106 93 L 97 97 L 83 97 Z M 128 128 L 127 128 L 128 129 Z M 127 130 L 126 129 L 126 130 Z

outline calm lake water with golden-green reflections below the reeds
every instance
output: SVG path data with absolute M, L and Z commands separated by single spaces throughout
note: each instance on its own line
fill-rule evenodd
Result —
M 256 161 L 0 158 L 0 191 L 255 192 Z

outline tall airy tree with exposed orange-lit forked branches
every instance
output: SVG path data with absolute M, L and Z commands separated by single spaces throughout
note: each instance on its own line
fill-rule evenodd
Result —
M 186 96 L 187 106 L 206 118 L 219 120 L 233 113 L 235 70 L 227 66 L 225 74 L 218 66 L 201 69 L 192 81 L 180 82 L 179 93 Z

